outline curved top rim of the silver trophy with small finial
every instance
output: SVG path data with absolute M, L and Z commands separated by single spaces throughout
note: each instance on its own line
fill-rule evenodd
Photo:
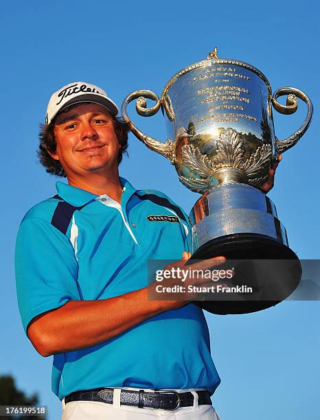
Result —
M 161 94 L 161 102 L 163 102 L 163 99 L 164 99 L 168 89 L 170 88 L 170 86 L 172 86 L 172 84 L 174 84 L 174 82 L 176 82 L 176 80 L 179 79 L 181 76 L 185 75 L 185 73 L 188 73 L 190 71 L 198 69 L 199 67 L 211 67 L 212 65 L 238 66 L 238 67 L 243 67 L 244 69 L 247 69 L 249 71 L 252 71 L 253 73 L 257 74 L 264 81 L 264 83 L 268 87 L 268 91 L 271 94 L 271 91 L 272 91 L 271 85 L 268 82 L 268 79 L 266 78 L 264 73 L 262 73 L 262 71 L 260 71 L 256 67 L 253 67 L 252 65 L 250 65 L 249 63 L 244 62 L 244 61 L 234 60 L 234 59 L 231 59 L 231 58 L 218 58 L 218 48 L 214 47 L 214 50 L 209 52 L 209 54 L 208 54 L 208 56 L 205 60 L 198 61 L 198 62 L 195 62 L 192 65 L 184 67 L 183 69 L 178 71 L 178 73 L 176 73 L 168 81 L 168 83 L 165 85 L 165 87 L 163 89 L 163 92 Z

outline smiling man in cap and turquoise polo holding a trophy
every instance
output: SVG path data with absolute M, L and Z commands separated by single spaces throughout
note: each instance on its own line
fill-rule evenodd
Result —
M 117 112 L 102 89 L 82 82 L 49 100 L 39 155 L 68 185 L 58 182 L 58 195 L 21 222 L 23 327 L 38 353 L 54 355 L 62 419 L 218 419 L 210 395 L 220 378 L 202 310 L 148 299 L 148 261 L 182 254 L 171 267 L 183 268 L 190 257 L 187 216 L 159 191 L 119 177 L 127 130 Z

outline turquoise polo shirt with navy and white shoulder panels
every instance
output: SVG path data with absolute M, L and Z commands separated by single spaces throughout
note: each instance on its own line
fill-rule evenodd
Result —
M 32 318 L 68 301 L 108 299 L 144 288 L 150 259 L 181 259 L 183 250 L 190 250 L 185 213 L 161 192 L 137 191 L 120 180 L 121 205 L 58 182 L 62 200 L 83 206 L 65 234 L 52 224 L 57 198 L 32 207 L 23 218 L 16 240 L 16 289 L 25 331 Z M 171 217 L 154 217 L 162 215 Z M 99 345 L 56 354 L 52 369 L 52 390 L 60 399 L 104 386 L 214 393 L 219 383 L 207 323 L 193 304 Z

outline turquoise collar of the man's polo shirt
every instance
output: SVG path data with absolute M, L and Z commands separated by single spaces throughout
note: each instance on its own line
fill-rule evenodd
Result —
M 120 178 L 120 183 L 123 187 L 122 193 L 122 202 L 128 202 L 129 198 L 135 194 L 137 191 L 126 178 Z M 73 187 L 72 185 L 62 183 L 58 181 L 56 183 L 56 189 L 58 191 L 58 195 L 63 198 L 63 200 L 69 202 L 69 204 L 75 207 L 81 207 L 86 205 L 88 202 L 94 200 L 95 198 L 99 197 L 96 194 L 92 194 L 85 189 Z

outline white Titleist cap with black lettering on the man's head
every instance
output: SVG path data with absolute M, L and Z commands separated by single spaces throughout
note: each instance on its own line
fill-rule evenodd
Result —
M 81 102 L 100 104 L 113 115 L 119 112 L 115 102 L 98 86 L 86 82 L 73 82 L 63 86 L 50 97 L 45 124 L 49 125 L 62 109 Z

